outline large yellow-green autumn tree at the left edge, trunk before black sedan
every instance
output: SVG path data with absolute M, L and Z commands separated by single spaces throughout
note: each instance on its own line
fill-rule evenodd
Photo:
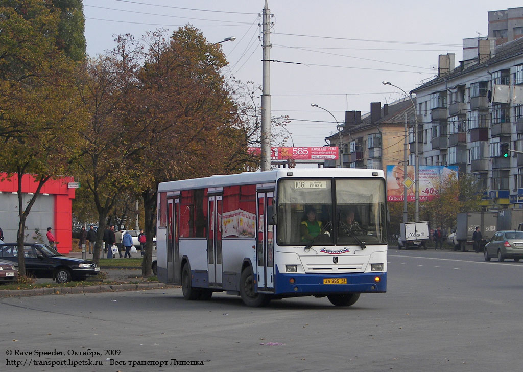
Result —
M 84 112 L 74 89 L 76 64 L 56 46 L 60 12 L 40 0 L 0 1 L 0 167 L 18 177 L 18 250 L 42 186 L 70 172 L 78 156 Z M 35 174 L 24 205 L 22 175 Z M 24 255 L 18 255 L 25 276 Z

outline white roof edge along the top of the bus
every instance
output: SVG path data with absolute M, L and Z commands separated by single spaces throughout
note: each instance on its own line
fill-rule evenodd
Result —
M 381 177 L 381 169 L 364 168 L 278 168 L 267 172 L 243 172 L 230 175 L 217 175 L 203 178 L 183 179 L 180 181 L 162 182 L 158 192 L 197 189 L 206 187 L 222 187 L 249 184 L 275 183 L 279 178 L 323 178 L 323 177 Z

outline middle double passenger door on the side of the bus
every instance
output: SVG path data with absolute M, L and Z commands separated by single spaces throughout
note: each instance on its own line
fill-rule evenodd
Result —
M 209 286 L 222 285 L 222 196 L 209 196 L 207 257 Z

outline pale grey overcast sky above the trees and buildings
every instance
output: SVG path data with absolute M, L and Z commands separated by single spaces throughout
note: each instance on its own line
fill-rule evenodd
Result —
M 226 77 L 261 85 L 261 13 L 265 0 L 84 0 L 90 57 L 125 33 L 140 39 L 158 28 L 191 24 L 221 43 Z M 462 60 L 462 39 L 486 36 L 492 10 L 520 1 L 268 0 L 271 17 L 272 116 L 288 115 L 287 145 L 322 146 L 345 110 L 365 115 L 371 102 L 393 103 L 433 78 L 439 54 Z M 260 92 L 261 93 L 261 92 Z M 317 104 L 325 108 L 311 107 Z M 334 118 L 333 118 L 334 116 Z

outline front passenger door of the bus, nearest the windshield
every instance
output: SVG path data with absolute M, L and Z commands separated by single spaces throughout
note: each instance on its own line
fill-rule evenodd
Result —
M 267 219 L 273 200 L 274 192 L 258 192 L 256 266 L 260 291 L 274 291 L 274 226 Z

